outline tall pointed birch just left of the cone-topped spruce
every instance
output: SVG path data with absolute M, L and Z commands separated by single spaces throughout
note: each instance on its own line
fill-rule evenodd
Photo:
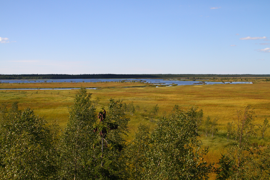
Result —
M 95 139 L 93 124 L 96 122 L 95 106 L 91 94 L 85 88 L 76 93 L 69 110 L 69 119 L 61 138 L 60 171 L 61 179 L 91 179 L 94 171 L 86 166 Z

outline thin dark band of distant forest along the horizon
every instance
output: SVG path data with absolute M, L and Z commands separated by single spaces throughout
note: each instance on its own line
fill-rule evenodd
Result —
M 270 74 L 0 74 L 0 79 L 144 79 L 144 78 L 245 78 Z

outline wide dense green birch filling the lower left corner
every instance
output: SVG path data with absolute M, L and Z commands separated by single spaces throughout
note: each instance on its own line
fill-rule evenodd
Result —
M 0 109 L 1 179 L 54 179 L 55 131 L 33 110 L 18 110 L 17 102 Z

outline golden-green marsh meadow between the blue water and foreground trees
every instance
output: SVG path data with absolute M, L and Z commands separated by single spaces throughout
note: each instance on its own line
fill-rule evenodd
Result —
M 207 116 L 218 120 L 218 133 L 214 137 L 205 137 L 202 129 L 199 131 L 203 146 L 209 146 L 209 153 L 205 160 L 218 162 L 220 152 L 226 152 L 228 142 L 226 139 L 227 123 L 237 118 L 237 110 L 244 110 L 248 104 L 255 108 L 257 115 L 255 123 L 262 124 L 265 118 L 270 119 L 270 82 L 253 81 L 253 84 L 216 84 L 216 85 L 182 85 L 170 87 L 158 87 L 143 84 L 140 82 L 103 82 L 103 83 L 14 83 L 0 84 L 0 88 L 77 88 L 77 87 L 98 88 L 89 89 L 92 93 L 92 101 L 97 107 L 107 105 L 110 98 L 123 99 L 123 102 L 134 103 L 136 112 L 127 117 L 129 122 L 130 135 L 132 139 L 134 131 L 140 123 L 149 125 L 153 129 L 157 118 L 151 122 L 148 113 L 153 106 L 158 104 L 158 116 L 169 115 L 177 104 L 180 109 L 187 110 L 192 106 L 203 110 L 204 120 Z M 1 90 L 0 103 L 11 103 L 18 101 L 19 109 L 30 107 L 39 116 L 44 116 L 47 122 L 58 119 L 59 125 L 64 128 L 68 119 L 67 107 L 73 103 L 73 98 L 78 90 Z M 262 140 L 258 134 L 256 142 L 265 145 L 270 142 L 270 130 L 265 133 Z

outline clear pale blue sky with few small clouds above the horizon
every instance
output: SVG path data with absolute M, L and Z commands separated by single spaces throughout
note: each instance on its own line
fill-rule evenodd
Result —
M 0 74 L 269 74 L 270 1 L 1 1 Z

